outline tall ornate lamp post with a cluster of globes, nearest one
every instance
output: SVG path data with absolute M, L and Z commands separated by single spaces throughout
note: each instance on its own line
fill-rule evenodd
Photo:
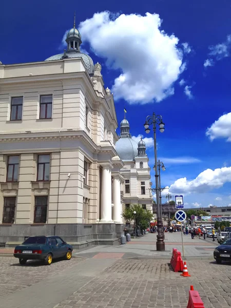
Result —
M 165 243 L 164 236 L 162 234 L 163 222 L 161 220 L 161 208 L 160 208 L 160 187 L 158 181 L 158 165 L 157 165 L 157 125 L 159 125 L 160 132 L 164 132 L 164 123 L 161 115 L 156 115 L 155 112 L 152 115 L 148 115 L 146 118 L 146 122 L 144 124 L 144 128 L 146 133 L 150 132 L 149 125 L 153 127 L 153 135 L 154 135 L 154 156 L 155 156 L 155 178 L 156 178 L 156 196 L 157 196 L 157 251 L 165 251 Z

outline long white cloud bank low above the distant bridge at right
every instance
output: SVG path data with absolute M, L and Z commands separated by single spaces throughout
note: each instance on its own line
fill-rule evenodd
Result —
M 220 188 L 225 183 L 231 182 L 231 167 L 222 167 L 215 170 L 206 169 L 194 180 L 181 178 L 169 188 L 171 194 L 197 194 Z

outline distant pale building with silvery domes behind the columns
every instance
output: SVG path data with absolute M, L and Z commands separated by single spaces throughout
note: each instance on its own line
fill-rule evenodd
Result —
M 120 139 L 115 143 L 115 149 L 124 163 L 121 169 L 124 178 L 121 185 L 123 209 L 136 203 L 152 211 L 152 194 L 149 189 L 152 183 L 145 142 L 141 138 L 137 143 L 131 138 L 130 125 L 125 118 L 120 124 Z

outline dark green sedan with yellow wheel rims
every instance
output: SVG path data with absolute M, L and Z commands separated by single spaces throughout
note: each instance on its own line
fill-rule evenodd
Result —
M 44 260 L 50 265 L 53 259 L 66 258 L 70 260 L 73 248 L 59 236 L 31 236 L 14 249 L 14 257 L 21 265 L 27 260 Z

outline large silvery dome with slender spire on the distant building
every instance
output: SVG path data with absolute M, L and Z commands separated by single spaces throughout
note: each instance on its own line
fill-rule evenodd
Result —
M 115 150 L 122 161 L 133 161 L 138 155 L 138 144 L 131 138 L 130 125 L 125 118 L 120 123 L 120 139 L 115 143 Z

